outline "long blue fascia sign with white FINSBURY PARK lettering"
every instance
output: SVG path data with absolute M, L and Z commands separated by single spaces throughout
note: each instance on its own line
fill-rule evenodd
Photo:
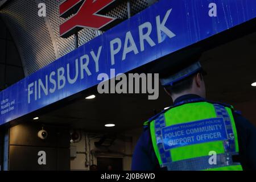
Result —
M 3 90 L 0 125 L 255 18 L 255 0 L 160 0 Z

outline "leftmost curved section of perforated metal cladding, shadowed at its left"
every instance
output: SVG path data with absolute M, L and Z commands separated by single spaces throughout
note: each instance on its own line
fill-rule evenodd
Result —
M 35 1 L 10 1 L 1 14 L 22 52 L 20 57 L 25 62 L 28 74 L 49 64 L 49 60 L 56 59 L 46 23 L 38 16 Z

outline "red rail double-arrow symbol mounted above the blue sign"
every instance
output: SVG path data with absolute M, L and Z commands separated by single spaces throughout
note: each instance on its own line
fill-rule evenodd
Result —
M 82 28 L 101 30 L 112 23 L 115 18 L 98 14 L 117 0 L 67 0 L 60 5 L 60 16 L 71 18 L 60 25 L 60 36 L 67 38 Z

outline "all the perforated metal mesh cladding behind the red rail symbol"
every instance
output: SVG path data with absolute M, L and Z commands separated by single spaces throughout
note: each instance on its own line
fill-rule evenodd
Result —
M 74 36 L 60 38 L 59 25 L 65 21 L 59 17 L 59 5 L 65 0 L 13 0 L 0 13 L 8 22 L 13 38 L 16 39 L 20 57 L 31 74 L 45 65 L 75 49 Z M 38 3 L 46 3 L 47 18 L 38 16 Z M 131 15 L 138 13 L 156 0 L 131 0 Z M 127 19 L 127 1 L 106 15 Z M 95 38 L 91 29 L 79 31 L 79 46 Z

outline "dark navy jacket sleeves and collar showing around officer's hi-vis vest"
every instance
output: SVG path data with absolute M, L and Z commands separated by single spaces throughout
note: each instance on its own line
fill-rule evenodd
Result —
M 197 98 L 200 97 L 192 94 L 181 96 L 175 100 L 174 105 Z M 201 99 L 203 100 L 203 98 Z M 234 121 L 237 128 L 240 153 L 236 156 L 236 162 L 241 163 L 243 170 L 256 170 L 256 127 L 238 112 L 234 112 Z M 138 140 L 133 153 L 131 169 L 133 171 L 165 170 L 165 168 L 160 168 L 156 159 L 149 127 L 144 129 Z

